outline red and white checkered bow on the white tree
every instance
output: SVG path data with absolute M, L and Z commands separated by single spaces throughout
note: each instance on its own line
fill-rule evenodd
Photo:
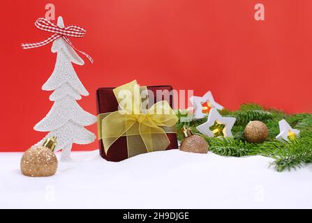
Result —
M 70 45 L 70 47 L 73 47 L 73 49 L 75 49 L 77 52 L 80 52 L 81 54 L 84 54 L 84 56 L 87 56 L 87 59 L 89 59 L 89 61 L 93 63 L 93 59 L 91 58 L 91 56 L 89 56 L 85 52 L 82 52 L 76 49 L 73 46 L 73 44 L 70 42 L 70 40 L 68 39 L 68 36 L 77 37 L 77 38 L 84 37 L 84 34 L 86 33 L 86 31 L 82 27 L 70 25 L 70 26 L 66 26 L 65 28 L 61 28 L 57 26 L 56 24 L 46 20 L 45 18 L 39 18 L 38 20 L 36 20 L 35 26 L 40 30 L 54 33 L 54 34 L 50 36 L 49 38 L 47 38 L 46 40 L 43 40 L 38 43 L 23 43 L 22 44 L 23 49 L 32 49 L 36 47 L 42 47 L 44 45 L 47 45 L 48 43 L 51 43 L 54 40 L 57 40 L 58 38 L 63 38 L 66 41 L 66 43 Z

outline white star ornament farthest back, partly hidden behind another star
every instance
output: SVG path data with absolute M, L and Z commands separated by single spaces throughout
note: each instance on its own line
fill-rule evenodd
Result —
M 202 97 L 192 96 L 190 100 L 194 106 L 194 118 L 195 119 L 205 118 L 205 114 L 202 113 L 202 104 L 205 102 L 207 102 L 207 105 L 211 108 L 216 108 L 218 110 L 223 109 L 222 105 L 214 101 L 214 97 L 212 96 L 211 91 L 208 91 Z

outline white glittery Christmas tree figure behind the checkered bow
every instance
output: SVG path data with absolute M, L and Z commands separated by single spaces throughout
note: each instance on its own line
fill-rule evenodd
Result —
M 61 17 L 57 20 L 57 26 L 64 28 Z M 50 95 L 54 105 L 47 116 L 35 125 L 34 130 L 49 132 L 38 144 L 42 144 L 48 137 L 57 137 L 55 151 L 62 149 L 61 160 L 66 161 L 70 160 L 73 144 L 90 144 L 96 139 L 95 134 L 84 128 L 94 124 L 96 116 L 85 112 L 76 102 L 82 98 L 81 95 L 89 95 L 72 65 L 83 65 L 84 61 L 64 38 L 54 40 L 51 51 L 57 53 L 57 62 L 42 89 L 54 91 Z

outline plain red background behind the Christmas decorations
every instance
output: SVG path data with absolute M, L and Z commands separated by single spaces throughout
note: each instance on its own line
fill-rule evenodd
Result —
M 87 29 L 85 38 L 72 41 L 95 60 L 75 66 L 90 93 L 79 101 L 88 112 L 96 114 L 98 87 L 133 79 L 196 95 L 211 90 L 229 109 L 258 102 L 312 112 L 310 0 L 7 0 L 1 2 L 0 151 L 24 151 L 45 135 L 33 127 L 52 106 L 52 92 L 41 86 L 56 54 L 51 45 L 23 50 L 20 43 L 47 38 L 34 26 L 46 3 L 54 3 L 65 24 Z M 265 5 L 264 22 L 253 18 L 255 3 Z

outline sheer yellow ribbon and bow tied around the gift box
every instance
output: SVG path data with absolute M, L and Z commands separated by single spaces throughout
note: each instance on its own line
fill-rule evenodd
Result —
M 128 157 L 146 151 L 164 151 L 169 146 L 166 132 L 174 132 L 172 128 L 178 121 L 177 115 L 164 100 L 149 109 L 142 109 L 142 88 L 146 89 L 133 81 L 114 89 L 120 109 L 105 116 L 101 123 L 106 154 L 114 141 L 123 136 L 127 137 Z

